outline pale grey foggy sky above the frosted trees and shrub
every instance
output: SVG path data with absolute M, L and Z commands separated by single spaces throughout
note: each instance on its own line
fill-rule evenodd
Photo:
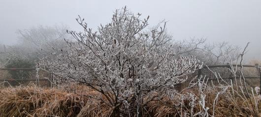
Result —
M 0 0 L 0 43 L 13 44 L 17 29 L 38 25 L 78 30 L 77 15 L 96 29 L 125 5 L 133 13 L 150 15 L 151 26 L 168 21 L 174 39 L 204 37 L 240 46 L 251 42 L 249 58 L 261 59 L 261 0 Z

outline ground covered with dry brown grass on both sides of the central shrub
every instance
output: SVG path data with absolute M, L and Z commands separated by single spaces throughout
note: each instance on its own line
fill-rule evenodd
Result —
M 217 89 L 218 90 L 218 89 Z M 261 115 L 259 95 L 255 98 L 188 88 L 172 100 L 162 98 L 143 105 L 142 117 L 255 117 Z M 232 94 L 231 97 L 228 97 Z M 82 85 L 67 88 L 36 86 L 0 89 L 0 117 L 112 117 L 112 108 L 94 99 L 97 91 Z M 243 95 L 242 95 L 243 96 Z M 102 98 L 102 95 L 100 95 Z M 247 99 L 247 100 L 245 100 Z M 251 101 L 256 106 L 250 104 Z M 214 105 L 214 106 L 213 106 Z M 214 109 L 214 113 L 213 113 Z

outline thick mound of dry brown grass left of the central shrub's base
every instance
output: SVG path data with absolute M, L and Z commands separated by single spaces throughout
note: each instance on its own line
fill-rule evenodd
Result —
M 85 94 L 97 95 L 87 90 Z M 109 112 L 106 105 L 88 96 L 56 88 L 28 86 L 0 90 L 0 117 L 101 117 Z

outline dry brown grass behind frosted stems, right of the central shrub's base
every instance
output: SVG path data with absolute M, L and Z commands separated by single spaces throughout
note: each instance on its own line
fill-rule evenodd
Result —
M 215 96 L 216 96 L 215 92 L 209 92 L 206 94 L 205 106 L 209 107 L 208 110 L 209 114 L 213 113 L 213 102 L 215 100 Z M 218 98 L 218 103 L 215 104 L 215 117 L 255 117 L 253 112 L 251 112 L 252 108 L 251 107 L 249 108 L 247 106 L 245 100 L 242 100 L 239 97 L 236 97 L 234 99 L 236 100 L 235 102 L 236 105 L 232 100 L 230 100 L 226 96 L 220 95 Z M 183 102 L 183 105 L 177 105 L 180 101 Z M 187 99 L 187 100 L 170 100 L 165 103 L 163 101 L 151 102 L 148 106 L 152 116 L 146 116 L 146 117 L 190 117 L 189 114 L 191 113 L 191 109 L 192 109 L 192 106 L 190 105 L 191 101 L 192 100 Z M 257 103 L 258 103 L 259 116 L 261 116 L 261 102 L 258 100 Z M 196 114 L 200 110 L 202 110 L 202 107 L 199 104 L 196 104 L 193 108 L 193 113 Z M 200 117 L 200 116 L 196 116 L 196 117 Z

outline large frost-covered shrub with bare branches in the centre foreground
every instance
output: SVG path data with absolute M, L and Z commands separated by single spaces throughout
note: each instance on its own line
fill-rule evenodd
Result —
M 113 116 L 138 117 L 149 101 L 171 98 L 175 85 L 201 67 L 192 56 L 175 56 L 165 22 L 147 28 L 149 17 L 140 17 L 125 7 L 93 31 L 79 16 L 83 31 L 67 31 L 76 41 L 65 40 L 68 48 L 41 59 L 39 66 L 100 92 L 93 98 L 110 106 Z

